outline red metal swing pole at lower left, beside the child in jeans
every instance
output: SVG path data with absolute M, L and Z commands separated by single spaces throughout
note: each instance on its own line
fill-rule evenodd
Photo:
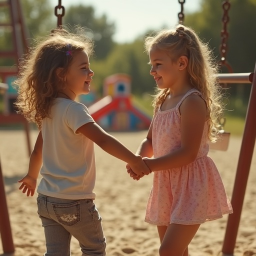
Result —
M 2 240 L 2 248 L 4 253 L 14 252 L 14 245 L 12 241 L 12 234 L 10 228 L 10 221 L 7 209 L 7 202 L 5 198 L 4 182 L 2 177 L 2 169 L 0 162 L 0 234 Z

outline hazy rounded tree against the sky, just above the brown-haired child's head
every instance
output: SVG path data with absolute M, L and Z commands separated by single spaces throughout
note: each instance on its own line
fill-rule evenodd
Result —
M 92 6 L 70 6 L 63 16 L 63 21 L 71 26 L 80 25 L 88 28 L 88 34 L 91 34 L 95 42 L 94 50 L 98 59 L 105 58 L 114 47 L 114 24 L 107 21 L 105 14 L 96 18 Z

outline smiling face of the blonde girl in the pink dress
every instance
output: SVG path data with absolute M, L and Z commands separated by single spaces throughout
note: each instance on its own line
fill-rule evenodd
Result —
M 153 46 L 149 51 L 150 74 L 160 89 L 172 87 L 180 75 L 178 61 L 172 61 L 163 50 Z

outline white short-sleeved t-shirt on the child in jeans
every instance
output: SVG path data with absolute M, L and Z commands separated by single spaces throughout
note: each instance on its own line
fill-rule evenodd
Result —
M 94 122 L 82 103 L 55 98 L 51 118 L 42 120 L 42 167 L 37 192 L 64 198 L 95 198 L 94 143 L 76 130 Z

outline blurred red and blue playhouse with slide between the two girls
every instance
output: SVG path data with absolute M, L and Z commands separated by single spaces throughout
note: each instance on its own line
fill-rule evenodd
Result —
M 113 74 L 105 78 L 103 98 L 88 107 L 95 122 L 108 131 L 148 129 L 151 117 L 132 104 L 130 76 Z

